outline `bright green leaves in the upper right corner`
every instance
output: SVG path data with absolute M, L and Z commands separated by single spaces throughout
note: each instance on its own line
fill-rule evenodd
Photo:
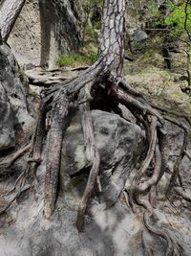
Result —
M 169 1 L 170 6 L 170 13 L 166 15 L 164 19 L 164 23 L 166 25 L 171 25 L 173 30 L 177 34 L 182 34 L 184 31 L 184 24 L 185 24 L 185 3 L 179 6 L 176 6 L 171 1 Z M 188 5 L 187 8 L 187 22 L 186 22 L 186 29 L 191 31 L 191 4 Z

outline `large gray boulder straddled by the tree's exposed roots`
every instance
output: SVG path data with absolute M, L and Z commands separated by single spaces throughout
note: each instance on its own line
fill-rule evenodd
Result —
M 137 125 L 117 114 L 93 110 L 92 117 L 100 153 L 101 195 L 110 205 L 117 201 L 127 177 L 138 163 L 144 149 L 144 136 Z M 87 166 L 82 128 L 76 113 L 63 141 L 61 175 L 63 179 L 66 175 L 77 175 Z

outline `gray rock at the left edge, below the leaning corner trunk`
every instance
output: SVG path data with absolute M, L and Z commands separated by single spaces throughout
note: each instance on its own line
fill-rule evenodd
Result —
M 14 146 L 16 126 L 26 129 L 33 123 L 27 99 L 28 81 L 11 49 L 0 46 L 0 151 Z

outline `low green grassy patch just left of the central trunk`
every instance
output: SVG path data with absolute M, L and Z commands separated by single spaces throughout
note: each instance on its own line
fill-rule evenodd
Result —
M 78 65 L 91 65 L 96 61 L 96 53 L 95 52 L 72 52 L 64 56 L 60 56 L 57 58 L 56 63 L 59 66 L 78 66 Z

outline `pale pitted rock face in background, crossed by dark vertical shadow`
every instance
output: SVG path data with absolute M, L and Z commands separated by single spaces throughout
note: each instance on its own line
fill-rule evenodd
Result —
M 27 0 L 9 44 L 19 63 L 27 68 L 39 64 L 53 68 L 58 55 L 77 49 L 82 21 L 78 1 Z

